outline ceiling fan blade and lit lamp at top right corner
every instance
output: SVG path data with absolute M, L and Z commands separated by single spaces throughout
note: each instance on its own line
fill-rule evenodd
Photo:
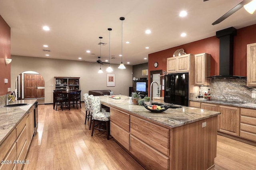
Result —
M 204 2 L 205 1 L 208 1 L 208 0 L 204 0 Z M 244 6 L 244 8 L 246 9 L 247 12 L 249 12 L 250 14 L 253 14 L 253 12 L 256 10 L 256 0 L 242 0 L 242 2 L 237 4 L 234 8 L 229 10 L 226 14 L 221 16 L 218 20 L 213 22 L 212 25 L 219 24 L 220 22 L 222 22 L 223 20 L 225 20 L 226 18 L 228 18 L 229 16 L 234 14 L 236 11 L 238 11 L 243 6 Z M 250 6 L 250 7 L 248 7 L 248 6 Z M 248 8 L 250 8 L 250 9 L 248 9 Z

